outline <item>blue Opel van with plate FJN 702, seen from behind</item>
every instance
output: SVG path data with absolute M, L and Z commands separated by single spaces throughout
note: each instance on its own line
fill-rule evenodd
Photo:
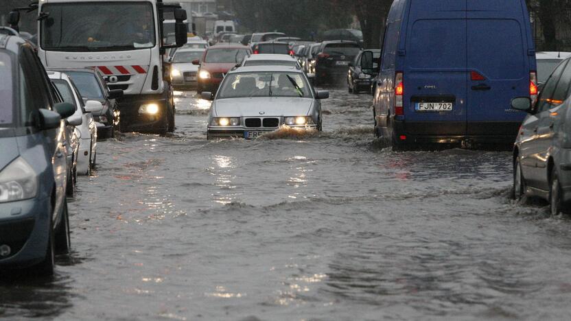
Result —
M 395 0 L 382 39 L 375 132 L 395 150 L 513 144 L 537 99 L 525 0 Z

